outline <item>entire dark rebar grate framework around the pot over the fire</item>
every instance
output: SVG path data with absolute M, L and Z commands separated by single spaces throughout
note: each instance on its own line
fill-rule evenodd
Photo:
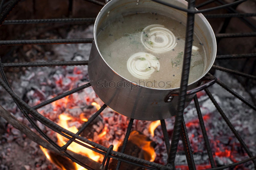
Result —
M 77 23 L 77 22 L 94 22 L 95 21 L 95 18 L 36 19 L 36 20 L 7 20 L 7 21 L 5 21 L 6 17 L 10 13 L 10 11 L 15 7 L 15 5 L 17 5 L 17 3 L 19 1 L 20 0 L 11 0 L 11 1 L 6 2 L 7 6 L 6 6 L 5 10 L 3 10 L 3 12 L 2 12 L 2 7 L 5 6 L 4 5 L 4 0 L 2 0 L 2 2 L 0 4 L 0 13 L 1 13 L 1 15 L 0 15 L 0 26 L 7 25 L 7 24 Z M 105 5 L 105 3 L 99 2 L 97 0 L 85 0 L 85 1 L 92 2 L 94 4 L 101 5 L 101 6 Z M 185 50 L 184 50 L 182 78 L 181 78 L 181 83 L 180 83 L 180 92 L 179 92 L 179 100 L 178 100 L 178 113 L 177 113 L 176 118 L 175 118 L 175 124 L 174 124 L 174 130 L 173 130 L 171 145 L 169 143 L 169 137 L 168 137 L 168 133 L 167 133 L 167 129 L 166 129 L 165 120 L 161 120 L 161 126 L 162 126 L 164 141 L 165 141 L 166 149 L 167 149 L 167 152 L 168 152 L 168 162 L 167 162 L 166 165 L 161 165 L 161 164 L 158 164 L 158 163 L 146 161 L 146 160 L 139 159 L 139 158 L 131 156 L 131 155 L 124 154 L 124 150 L 125 150 L 125 147 L 126 147 L 126 144 L 127 144 L 130 132 L 131 132 L 133 119 L 130 119 L 121 152 L 113 151 L 113 145 L 111 145 L 109 148 L 106 148 L 106 147 L 104 147 L 104 146 L 102 146 L 98 143 L 92 142 L 92 141 L 90 141 L 90 140 L 88 140 L 84 137 L 79 136 L 82 133 L 82 131 L 84 129 L 86 129 L 86 127 L 88 127 L 88 125 L 91 122 L 93 122 L 93 120 L 97 116 L 100 115 L 100 113 L 104 110 L 104 108 L 107 107 L 105 104 L 100 108 L 100 110 L 98 110 L 93 116 L 91 116 L 91 118 L 88 120 L 88 122 L 86 124 L 84 124 L 82 126 L 82 128 L 76 134 L 66 130 L 65 128 L 62 128 L 61 126 L 57 125 L 56 123 L 52 122 L 51 120 L 47 119 L 46 117 L 42 116 L 41 114 L 39 114 L 36 111 L 38 108 L 46 106 L 46 105 L 48 105 L 48 104 L 50 104 L 54 101 L 57 101 L 57 100 L 62 99 L 64 97 L 68 96 L 68 95 L 76 93 L 76 92 L 78 92 L 82 89 L 90 87 L 91 86 L 90 83 L 87 83 L 83 86 L 80 86 L 78 88 L 75 88 L 73 90 L 65 92 L 63 94 L 60 94 L 60 95 L 58 95 L 58 96 L 56 96 L 52 99 L 49 99 L 45 102 L 42 102 L 42 103 L 40 103 L 36 106 L 30 107 L 27 103 L 25 103 L 22 99 L 20 99 L 12 91 L 11 87 L 8 84 L 8 79 L 6 78 L 4 70 L 3 70 L 4 67 L 51 67 L 51 66 L 87 65 L 88 61 L 2 63 L 1 59 L 0 59 L 0 73 L 1 73 L 1 76 L 2 76 L 2 78 L 0 78 L 0 84 L 12 96 L 13 100 L 15 101 L 15 103 L 17 104 L 17 106 L 21 110 L 21 112 L 24 114 L 24 116 L 28 119 L 28 121 L 31 123 L 31 125 L 33 125 L 33 127 L 40 133 L 40 135 L 42 137 L 44 137 L 50 144 L 52 144 L 56 149 L 58 149 L 62 154 L 67 156 L 69 159 L 78 163 L 79 165 L 83 166 L 84 168 L 93 169 L 89 165 L 87 165 L 86 163 L 81 162 L 80 160 L 77 160 L 76 158 L 74 158 L 73 156 L 71 156 L 67 152 L 67 147 L 72 142 L 78 143 L 78 144 L 82 145 L 83 147 L 89 148 L 89 149 L 91 149 L 91 150 L 93 150 L 97 153 L 105 155 L 104 160 L 103 160 L 102 165 L 101 165 L 101 168 L 103 168 L 104 164 L 106 163 L 105 164 L 105 169 L 108 169 L 109 160 L 110 160 L 110 158 L 112 158 L 112 159 L 118 160 L 116 170 L 118 170 L 120 168 L 121 162 L 126 162 L 126 163 L 129 163 L 129 164 L 135 165 L 135 166 L 140 166 L 140 167 L 146 168 L 146 169 L 172 170 L 172 169 L 175 169 L 174 160 L 175 160 L 175 156 L 176 156 L 176 153 L 177 153 L 177 146 L 178 146 L 179 137 L 181 136 L 183 144 L 184 144 L 184 151 L 185 151 L 186 157 L 187 157 L 188 167 L 189 167 L 189 169 L 196 169 L 195 162 L 194 162 L 194 159 L 193 159 L 193 153 L 191 152 L 191 146 L 190 146 L 190 142 L 189 142 L 189 139 L 188 139 L 186 124 L 185 124 L 184 117 L 183 117 L 183 112 L 184 112 L 184 107 L 185 107 L 185 99 L 186 99 L 186 94 L 187 94 L 188 75 L 189 75 L 189 69 L 190 69 L 191 49 L 192 49 L 192 44 L 193 44 L 194 17 L 195 17 L 195 14 L 197 14 L 197 13 L 203 13 L 203 12 L 208 12 L 208 11 L 212 11 L 212 10 L 217 10 L 217 9 L 221 9 L 221 8 L 230 7 L 232 5 L 238 5 L 238 4 L 240 4 L 240 3 L 242 3 L 246 0 L 238 0 L 238 1 L 235 1 L 233 3 L 222 4 L 222 5 L 214 7 L 214 8 L 208 8 L 208 9 L 203 9 L 203 10 L 197 10 L 195 8 L 195 0 L 189 0 L 188 1 L 188 8 L 187 9 L 172 5 L 171 3 L 163 2 L 161 0 L 152 0 L 152 1 L 155 1 L 157 3 L 161 3 L 163 5 L 167 5 L 169 7 L 176 8 L 176 9 L 187 12 L 186 41 L 185 41 Z M 200 8 L 204 5 L 207 5 L 207 4 L 215 2 L 215 1 L 217 1 L 217 0 L 208 0 L 208 1 L 198 5 L 197 7 Z M 206 17 L 208 17 L 208 18 L 250 17 L 250 16 L 256 16 L 256 14 L 255 13 L 251 13 L 251 14 L 239 14 L 239 13 L 237 14 L 237 13 L 234 13 L 234 14 L 206 15 Z M 242 19 L 244 19 L 244 18 L 242 18 Z M 244 20 L 244 21 L 246 23 L 250 24 L 246 20 Z M 216 38 L 247 37 L 247 36 L 256 36 L 256 33 L 252 32 L 252 33 L 238 33 L 238 34 L 217 34 Z M 0 45 L 91 43 L 92 40 L 93 40 L 92 38 L 88 38 L 88 39 L 61 39 L 61 40 L 60 39 L 57 39 L 57 40 L 1 40 Z M 232 55 L 219 55 L 219 56 L 217 56 L 216 59 L 238 59 L 238 58 L 251 58 L 251 57 L 255 57 L 255 56 L 256 56 L 256 53 L 232 54 Z M 219 66 L 213 66 L 213 68 L 221 70 L 221 71 L 226 71 L 230 74 L 236 74 L 236 75 L 251 78 L 251 79 L 256 78 L 253 75 L 248 75 L 248 74 L 245 74 L 245 73 L 242 73 L 242 72 L 230 70 L 230 69 L 219 67 Z M 212 76 L 212 75 L 210 75 L 210 76 Z M 242 96 L 240 96 L 239 94 L 234 92 L 229 87 L 227 87 L 223 82 L 217 80 L 217 83 L 221 87 L 223 87 L 224 89 L 229 91 L 231 94 L 236 96 L 238 99 L 240 99 L 242 102 L 247 104 L 253 110 L 256 111 L 256 107 L 252 103 L 250 103 L 249 101 L 244 99 Z M 220 106 L 217 104 L 214 97 L 211 95 L 211 93 L 209 92 L 209 90 L 207 88 L 202 89 L 202 90 L 206 91 L 207 95 L 209 96 L 209 98 L 211 99 L 213 104 L 216 106 L 217 110 L 220 112 L 221 116 L 223 117 L 223 119 L 225 120 L 227 125 L 230 127 L 230 129 L 232 130 L 232 132 L 234 133 L 236 138 L 239 140 L 243 149 L 247 152 L 247 154 L 250 157 L 246 160 L 243 160 L 243 161 L 240 161 L 240 162 L 237 162 L 237 163 L 233 163 L 233 164 L 230 164 L 230 165 L 217 167 L 217 168 L 215 167 L 214 158 L 212 156 L 212 152 L 211 152 L 211 149 L 210 149 L 210 144 L 209 144 L 206 129 L 205 129 L 205 126 L 204 126 L 204 121 L 202 119 L 202 114 L 201 114 L 201 111 L 200 111 L 199 102 L 197 100 L 197 96 L 195 95 L 194 102 L 195 102 L 195 107 L 196 107 L 196 110 L 197 110 L 197 113 L 198 113 L 199 124 L 200 124 L 201 129 L 202 129 L 202 135 L 203 135 L 206 150 L 207 150 L 207 153 L 208 153 L 208 156 L 209 156 L 209 162 L 210 162 L 211 167 L 212 167 L 211 169 L 208 169 L 208 170 L 217 170 L 217 169 L 224 169 L 224 168 L 228 168 L 228 167 L 233 167 L 233 166 L 236 166 L 236 165 L 248 162 L 248 161 L 253 161 L 253 163 L 255 165 L 255 168 L 256 168 L 256 156 L 252 155 L 252 153 L 250 152 L 250 150 L 248 149 L 246 144 L 243 142 L 242 138 L 239 136 L 238 132 L 234 129 L 232 124 L 229 122 L 229 119 L 226 117 L 224 112 L 221 110 Z M 29 115 L 33 116 L 36 120 L 38 120 L 43 125 L 50 128 L 51 130 L 59 133 L 60 135 L 62 135 L 65 138 L 69 139 L 69 141 L 65 145 L 60 147 L 57 143 L 55 143 L 51 138 L 49 138 L 37 126 L 37 124 L 34 122 L 34 120 Z M 87 143 L 87 144 L 91 145 L 92 147 L 88 146 L 88 145 L 86 145 L 82 142 Z

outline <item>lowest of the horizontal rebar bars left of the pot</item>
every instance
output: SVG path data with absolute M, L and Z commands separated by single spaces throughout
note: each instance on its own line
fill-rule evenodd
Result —
M 88 65 L 88 60 L 82 61 L 52 61 L 31 63 L 3 63 L 3 67 L 54 67 L 54 66 L 80 66 Z

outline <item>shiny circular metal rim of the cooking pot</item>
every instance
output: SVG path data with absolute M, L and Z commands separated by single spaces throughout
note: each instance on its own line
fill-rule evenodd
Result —
M 119 73 L 117 73 L 112 67 L 110 67 L 110 65 L 105 61 L 105 59 L 104 59 L 103 56 L 101 55 L 100 50 L 99 50 L 99 47 L 98 47 L 97 35 L 96 35 L 96 31 L 97 31 L 96 24 L 98 23 L 98 20 L 99 20 L 99 18 L 101 17 L 101 14 L 103 13 L 102 10 L 105 9 L 105 8 L 108 8 L 109 6 L 111 6 L 113 3 L 115 3 L 115 1 L 119 1 L 119 0 L 111 0 L 110 2 L 108 2 L 105 6 L 103 6 L 103 8 L 100 10 L 99 14 L 97 15 L 96 20 L 95 20 L 95 22 L 94 22 L 94 27 L 93 27 L 94 43 L 95 43 L 95 46 L 96 46 L 96 48 L 97 48 L 97 51 L 98 51 L 98 53 L 100 54 L 100 56 L 101 56 L 101 58 L 103 59 L 103 61 L 108 65 L 108 67 L 109 67 L 115 74 L 117 74 L 118 76 L 122 77 L 123 79 L 129 81 L 129 82 L 132 83 L 132 84 L 136 84 L 136 83 L 134 83 L 134 82 L 128 80 L 127 78 L 121 76 L 121 75 L 120 75 Z M 180 2 L 183 3 L 184 5 L 188 6 L 188 2 L 185 1 L 185 0 L 177 0 L 177 1 L 180 1 Z M 198 9 L 196 9 L 196 10 L 198 10 Z M 209 29 L 209 31 L 210 31 L 213 35 L 215 35 L 215 34 L 214 34 L 214 31 L 213 31 L 213 29 L 212 29 L 212 27 L 211 27 L 211 25 L 210 25 L 210 23 L 209 23 L 208 20 L 204 17 L 204 15 L 202 15 L 202 13 L 198 13 L 198 14 L 195 14 L 195 15 L 198 15 L 198 16 L 204 21 L 204 23 L 205 23 L 205 25 L 207 26 L 207 28 Z M 217 42 L 216 42 L 215 36 L 214 36 L 214 38 L 212 39 L 212 41 L 213 41 L 213 48 L 214 48 L 214 49 L 217 49 Z M 214 62 L 215 62 L 216 55 L 217 55 L 217 50 L 214 51 L 214 53 L 213 53 L 214 59 L 213 59 L 212 62 L 209 64 L 208 69 L 204 71 L 204 74 L 202 74 L 202 75 L 201 75 L 198 79 L 196 79 L 195 81 L 189 83 L 188 86 L 191 85 L 191 84 L 194 84 L 194 83 L 198 82 L 202 77 L 204 77 L 204 76 L 208 73 L 208 71 L 211 69 L 212 65 L 213 65 Z M 180 87 L 177 87 L 177 88 L 170 88 L 170 89 L 157 89 L 157 88 L 151 88 L 151 87 L 141 86 L 141 85 L 139 85 L 139 84 L 136 84 L 136 85 L 137 85 L 137 86 L 140 86 L 140 87 L 143 87 L 143 88 L 154 89 L 154 90 L 176 90 L 176 89 L 179 89 L 179 88 L 180 88 Z

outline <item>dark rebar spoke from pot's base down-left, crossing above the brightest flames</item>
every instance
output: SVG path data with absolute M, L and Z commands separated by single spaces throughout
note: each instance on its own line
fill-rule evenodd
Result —
M 107 107 L 106 104 L 104 104 L 96 113 L 94 113 L 94 115 L 92 115 L 90 117 L 90 119 L 78 130 L 78 132 L 76 133 L 76 135 L 80 135 L 92 122 L 94 119 L 96 119 L 96 117 L 98 117 L 100 115 L 100 113 Z M 76 139 L 74 137 L 72 137 L 73 139 Z M 71 140 L 69 140 L 65 145 L 63 145 L 61 148 L 63 150 L 67 150 L 68 146 L 72 143 Z

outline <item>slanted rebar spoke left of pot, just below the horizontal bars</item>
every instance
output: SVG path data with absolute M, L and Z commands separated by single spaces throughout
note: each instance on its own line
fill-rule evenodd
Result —
M 47 104 L 50 104 L 50 103 L 55 102 L 55 101 L 57 101 L 57 100 L 59 100 L 59 99 L 65 98 L 65 97 L 68 96 L 68 95 L 71 95 L 71 94 L 73 94 L 73 93 L 76 93 L 76 92 L 78 92 L 78 91 L 80 91 L 80 90 L 83 90 L 83 89 L 85 89 L 85 88 L 88 88 L 88 87 L 90 87 L 90 86 L 91 86 L 91 83 L 84 84 L 84 85 L 82 85 L 82 86 L 79 86 L 78 88 L 72 89 L 72 90 L 67 91 L 67 92 L 65 92 L 65 93 L 62 93 L 62 94 L 60 94 L 60 95 L 58 95 L 58 96 L 56 96 L 56 97 L 54 97 L 54 98 L 51 98 L 51 99 L 49 99 L 49 100 L 46 100 L 46 101 L 44 101 L 44 102 L 42 102 L 42 103 L 40 103 L 40 104 L 38 104 L 38 105 L 35 105 L 35 106 L 33 106 L 32 108 L 35 109 L 35 110 L 36 110 L 36 109 L 39 109 L 39 108 L 41 108 L 41 107 L 46 106 Z

